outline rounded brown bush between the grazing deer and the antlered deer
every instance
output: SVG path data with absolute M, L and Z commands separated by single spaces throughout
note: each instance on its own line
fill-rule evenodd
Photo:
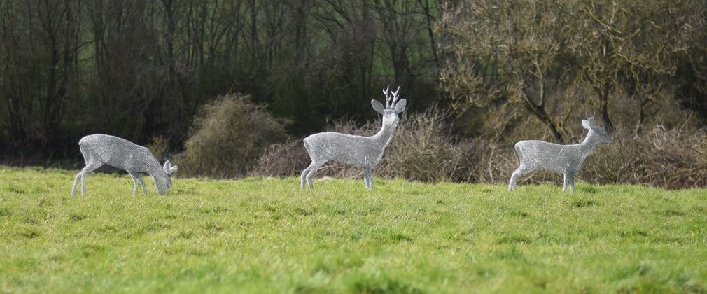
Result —
M 285 139 L 283 124 L 250 96 L 223 95 L 201 108 L 174 161 L 182 175 L 243 177 L 263 150 Z

